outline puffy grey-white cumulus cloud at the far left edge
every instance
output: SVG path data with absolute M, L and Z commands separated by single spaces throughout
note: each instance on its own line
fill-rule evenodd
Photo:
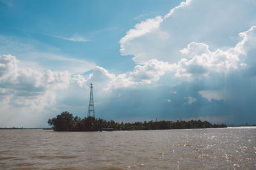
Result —
M 70 73 L 47 70 L 40 73 L 29 68 L 20 68 L 19 60 L 12 55 L 0 57 L 0 87 L 9 104 L 15 106 L 44 107 L 54 103 L 56 90 L 67 89 Z

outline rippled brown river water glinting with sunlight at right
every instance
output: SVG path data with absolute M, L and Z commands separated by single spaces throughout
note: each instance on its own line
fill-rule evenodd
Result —
M 0 130 L 0 169 L 256 169 L 256 128 Z

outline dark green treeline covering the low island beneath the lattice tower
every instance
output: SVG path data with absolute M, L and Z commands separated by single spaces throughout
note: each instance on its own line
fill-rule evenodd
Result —
M 102 118 L 73 117 L 68 111 L 62 112 L 54 118 L 49 118 L 48 124 L 52 126 L 54 131 L 100 131 L 102 128 L 113 128 L 116 131 L 134 131 L 134 130 L 157 130 L 157 129 L 198 129 L 211 127 L 227 127 L 224 124 L 212 125 L 211 123 L 201 120 L 190 120 L 172 122 L 170 120 L 162 120 L 159 122 L 135 122 L 135 123 L 118 123 L 114 120 L 106 121 Z

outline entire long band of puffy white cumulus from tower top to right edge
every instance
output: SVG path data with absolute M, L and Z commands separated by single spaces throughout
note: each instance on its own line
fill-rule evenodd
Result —
M 209 46 L 205 43 L 191 42 L 186 48 L 180 50 L 180 54 L 184 58 L 177 63 L 169 64 L 168 62 L 152 59 L 136 65 L 133 71 L 123 74 L 111 74 L 103 67 L 96 66 L 88 80 L 80 75 L 74 76 L 73 81 L 77 81 L 80 87 L 83 87 L 84 83 L 100 83 L 102 89 L 109 91 L 137 85 L 148 85 L 158 81 L 167 72 L 173 73 L 177 78 L 184 77 L 185 81 L 191 81 L 193 78 L 207 77 L 215 73 L 225 74 L 239 68 L 244 69 L 247 66 L 242 62 L 244 53 L 250 49 L 246 46 L 245 52 L 243 45 L 250 41 L 250 48 L 255 48 L 256 43 L 253 43 L 254 31 L 255 27 L 252 27 L 248 31 L 242 32 L 243 39 L 234 48 L 228 48 L 227 50 L 217 49 L 211 52 Z M 200 94 L 205 93 L 201 92 Z M 212 99 L 219 98 L 215 96 Z M 190 101 L 193 103 L 193 99 L 190 99 Z

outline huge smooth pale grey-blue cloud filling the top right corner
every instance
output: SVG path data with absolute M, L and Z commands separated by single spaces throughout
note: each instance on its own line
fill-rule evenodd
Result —
M 255 10 L 254 4 L 244 1 L 182 2 L 164 18 L 147 19 L 127 31 L 120 40 L 120 52 L 134 55 L 132 60 L 140 64 L 151 59 L 172 64 L 191 42 L 204 43 L 211 51 L 225 51 L 237 44 L 238 32 L 256 25 Z

